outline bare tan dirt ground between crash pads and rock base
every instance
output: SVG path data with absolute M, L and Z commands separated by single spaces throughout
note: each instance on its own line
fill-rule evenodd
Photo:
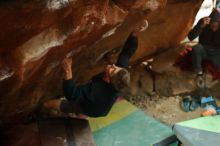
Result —
M 167 125 L 173 125 L 180 121 L 201 116 L 204 109 L 200 107 L 193 112 L 184 112 L 179 104 L 181 100 L 182 97 L 180 96 L 160 97 L 158 95 L 152 97 L 136 96 L 130 98 L 130 101 L 141 108 L 146 114 L 151 115 Z M 220 105 L 219 100 L 217 103 Z

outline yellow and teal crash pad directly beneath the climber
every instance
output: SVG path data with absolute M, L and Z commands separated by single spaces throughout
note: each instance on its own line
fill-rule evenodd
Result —
M 146 115 L 126 100 L 102 118 L 89 118 L 97 146 L 151 146 L 173 136 L 171 127 Z

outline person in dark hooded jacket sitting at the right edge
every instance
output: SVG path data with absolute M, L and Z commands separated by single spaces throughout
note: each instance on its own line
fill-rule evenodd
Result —
M 189 40 L 199 36 L 199 43 L 192 47 L 193 67 L 197 80 L 203 80 L 202 61 L 208 60 L 220 68 L 220 12 L 214 9 L 210 16 L 202 18 L 189 32 Z

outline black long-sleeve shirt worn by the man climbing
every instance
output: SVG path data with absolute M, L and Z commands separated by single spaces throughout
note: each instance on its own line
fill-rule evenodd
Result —
M 119 55 L 117 66 L 128 68 L 128 62 L 137 49 L 137 37 L 130 35 Z M 105 116 L 116 101 L 119 92 L 103 80 L 104 72 L 94 76 L 85 85 L 76 86 L 72 79 L 63 81 L 64 96 L 80 104 L 90 117 Z

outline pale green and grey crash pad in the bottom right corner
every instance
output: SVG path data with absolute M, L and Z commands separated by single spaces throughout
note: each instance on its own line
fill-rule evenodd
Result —
M 200 117 L 174 125 L 173 131 L 184 146 L 219 146 L 220 115 Z

